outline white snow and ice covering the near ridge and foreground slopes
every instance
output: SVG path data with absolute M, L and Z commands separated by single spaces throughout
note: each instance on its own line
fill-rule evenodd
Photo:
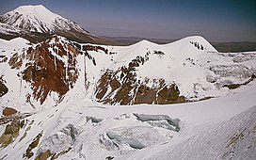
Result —
M 195 42 L 202 49 L 196 47 Z M 16 52 L 22 55 L 29 46 L 35 47 L 35 44 L 27 44 L 24 39 L 0 40 L 0 56 L 9 59 Z M 86 68 L 84 57 L 77 56 L 79 77 L 74 87 L 58 103 L 53 101 L 57 96 L 55 91 L 49 93 L 43 104 L 32 99 L 30 103 L 34 108 L 25 101 L 26 93 L 32 92 L 31 84 L 17 77 L 26 61 L 20 69 L 10 69 L 8 61 L 0 63 L 0 75 L 8 87 L 8 93 L 0 97 L 1 106 L 32 114 L 24 118 L 24 126 L 13 142 L 0 148 L 1 159 L 22 159 L 40 134 L 39 143 L 30 151 L 33 154 L 28 159 L 41 158 L 42 153 L 49 159 L 54 156 L 95 160 L 108 156 L 114 160 L 255 159 L 256 82 L 252 80 L 235 89 L 219 85 L 248 80 L 255 73 L 255 52 L 217 53 L 206 40 L 197 36 L 166 45 L 143 40 L 131 46 L 104 48 L 117 54 L 88 51 L 96 65 L 87 57 Z M 207 96 L 216 98 L 166 105 L 96 102 L 93 93 L 106 69 L 117 70 L 136 56 L 154 51 L 162 51 L 164 55 L 149 54 L 149 60 L 136 68 L 136 78 L 164 78 L 169 84 L 175 82 L 181 94 L 192 97 L 191 100 Z M 67 61 L 66 56 L 57 54 L 52 53 L 63 62 Z M 88 88 L 85 88 L 85 70 Z M 177 123 L 179 132 L 175 131 Z M 4 134 L 6 126 L 0 125 L 0 134 Z

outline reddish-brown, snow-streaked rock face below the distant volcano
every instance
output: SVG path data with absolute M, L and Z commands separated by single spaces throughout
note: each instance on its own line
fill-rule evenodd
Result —
M 23 79 L 31 83 L 33 97 L 43 104 L 52 91 L 58 93 L 59 100 L 73 88 L 77 78 L 76 56 L 78 50 L 72 44 L 54 37 L 43 41 L 36 48 L 30 47 L 25 58 Z M 49 44 L 50 43 L 50 44 Z

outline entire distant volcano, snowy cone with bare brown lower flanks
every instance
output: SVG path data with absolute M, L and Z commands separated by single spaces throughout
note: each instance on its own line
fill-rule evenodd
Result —
M 115 44 L 114 40 L 104 40 L 90 34 L 83 27 L 42 5 L 21 6 L 0 16 L 0 38 L 9 40 L 23 37 L 27 40 L 41 41 L 57 34 L 80 42 Z M 9 28 L 12 28 L 11 30 Z

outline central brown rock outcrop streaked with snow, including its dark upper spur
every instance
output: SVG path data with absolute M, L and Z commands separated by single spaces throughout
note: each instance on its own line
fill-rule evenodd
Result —
M 163 56 L 162 52 L 154 54 Z M 149 60 L 146 56 L 136 56 L 128 66 L 118 71 L 106 71 L 100 78 L 95 91 L 98 102 L 104 104 L 177 104 L 185 103 L 184 96 L 175 84 L 167 85 L 164 79 L 136 79 L 136 68 Z M 153 87 L 149 87 L 152 81 Z

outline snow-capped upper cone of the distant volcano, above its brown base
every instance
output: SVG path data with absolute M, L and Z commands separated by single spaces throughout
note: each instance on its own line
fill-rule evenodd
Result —
M 53 13 L 42 5 L 21 6 L 0 16 L 0 22 L 40 33 L 56 33 L 58 31 L 75 31 L 88 33 L 78 24 Z

